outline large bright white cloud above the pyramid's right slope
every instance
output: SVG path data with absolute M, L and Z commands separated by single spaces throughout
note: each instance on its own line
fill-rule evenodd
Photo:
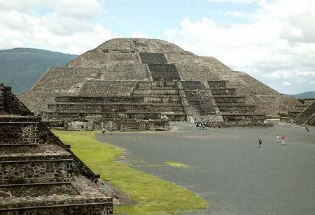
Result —
M 216 57 L 258 80 L 288 79 L 315 89 L 314 73 L 309 72 L 315 68 L 314 1 L 261 0 L 253 14 L 228 15 L 251 17 L 251 22 L 221 25 L 209 17 L 197 22 L 185 17 L 181 29 L 168 29 L 165 35 L 185 50 Z

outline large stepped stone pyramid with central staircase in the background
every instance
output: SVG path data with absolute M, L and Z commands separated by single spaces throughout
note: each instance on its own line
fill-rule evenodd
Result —
M 51 68 L 21 101 L 68 130 L 168 129 L 168 121 L 263 126 L 300 103 L 213 57 L 163 40 L 118 38 Z

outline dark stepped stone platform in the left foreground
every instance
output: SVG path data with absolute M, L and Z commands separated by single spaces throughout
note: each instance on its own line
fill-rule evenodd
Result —
M 112 194 L 0 85 L 0 214 L 113 214 Z

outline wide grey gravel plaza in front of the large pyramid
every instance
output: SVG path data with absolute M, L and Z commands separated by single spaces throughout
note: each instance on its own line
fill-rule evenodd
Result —
M 123 162 L 137 170 L 200 195 L 209 209 L 195 214 L 315 214 L 315 128 L 171 126 L 177 131 L 99 133 L 97 138 L 126 149 Z M 286 144 L 276 144 L 276 134 L 285 135 Z

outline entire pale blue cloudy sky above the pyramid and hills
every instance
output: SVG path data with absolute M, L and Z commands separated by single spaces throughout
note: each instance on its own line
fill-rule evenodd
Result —
M 0 49 L 157 38 L 298 94 L 315 91 L 314 22 L 314 0 L 0 0 Z

